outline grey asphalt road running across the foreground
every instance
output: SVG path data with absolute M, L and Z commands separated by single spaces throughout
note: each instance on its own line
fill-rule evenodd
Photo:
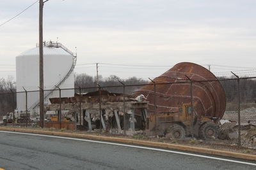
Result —
M 0 149 L 0 168 L 6 170 L 256 169 L 255 162 L 251 162 L 255 165 L 248 165 L 244 160 L 232 159 L 242 161 L 237 163 L 161 150 L 95 143 L 84 139 L 79 141 L 2 131 L 0 131 Z M 222 157 L 222 159 L 228 158 Z

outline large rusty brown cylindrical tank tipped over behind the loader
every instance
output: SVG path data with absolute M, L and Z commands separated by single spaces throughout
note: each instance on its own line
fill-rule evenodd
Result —
M 226 108 L 225 92 L 220 81 L 205 67 L 191 62 L 180 62 L 154 79 L 157 115 L 177 113 L 178 107 L 191 102 L 190 81 L 193 87 L 194 113 L 198 117 L 222 118 Z M 201 81 L 201 82 L 199 82 Z M 143 94 L 148 101 L 148 114 L 154 114 L 154 83 L 141 87 L 134 97 Z

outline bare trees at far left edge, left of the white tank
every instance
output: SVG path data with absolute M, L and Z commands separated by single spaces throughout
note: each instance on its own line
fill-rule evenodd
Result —
M 12 112 L 16 108 L 15 81 L 12 77 L 0 78 L 0 115 Z

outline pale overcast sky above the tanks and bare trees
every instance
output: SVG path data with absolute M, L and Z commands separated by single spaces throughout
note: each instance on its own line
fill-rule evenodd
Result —
M 0 24 L 35 1 L 1 0 Z M 0 78 L 15 77 L 15 57 L 38 43 L 38 6 L 0 26 Z M 225 74 L 256 67 L 255 9 L 255 0 L 49 0 L 44 40 L 77 47 L 76 73 L 95 75 L 99 62 L 104 77 L 147 78 L 186 61 Z

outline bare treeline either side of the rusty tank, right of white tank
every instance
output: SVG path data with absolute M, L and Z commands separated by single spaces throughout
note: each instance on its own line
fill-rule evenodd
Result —
M 232 77 L 235 79 L 235 77 Z M 218 77 L 221 85 L 225 91 L 226 101 L 227 103 L 237 102 L 238 92 L 237 92 L 237 80 L 227 80 L 230 78 L 227 77 Z M 108 78 L 102 78 L 99 76 L 99 85 L 100 86 L 115 86 L 122 85 L 119 81 L 122 81 L 125 85 L 140 85 L 148 83 L 146 80 L 142 80 L 141 78 L 127 78 L 125 80 L 119 78 L 118 76 L 111 75 Z M 240 80 L 240 99 L 241 103 L 256 103 L 256 79 L 242 79 Z M 97 87 L 96 78 L 93 76 L 89 76 L 88 74 L 77 74 L 75 78 L 75 87 Z M 132 92 L 140 89 L 141 86 L 133 86 L 133 87 L 125 87 L 126 94 L 132 94 Z M 86 89 L 83 92 L 92 92 L 97 90 L 95 89 Z M 110 92 L 118 92 L 122 93 L 122 87 L 111 87 L 107 88 Z M 78 92 L 78 91 L 77 91 Z

